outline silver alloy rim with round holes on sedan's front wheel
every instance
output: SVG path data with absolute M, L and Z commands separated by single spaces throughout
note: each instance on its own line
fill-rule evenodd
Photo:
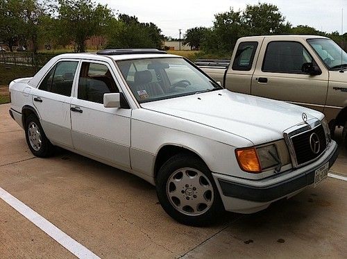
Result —
M 167 197 L 176 210 L 185 215 L 201 215 L 211 208 L 213 186 L 194 168 L 178 169 L 167 181 Z

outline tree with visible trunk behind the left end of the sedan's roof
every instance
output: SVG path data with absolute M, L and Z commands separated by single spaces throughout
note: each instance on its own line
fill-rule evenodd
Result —
M 107 5 L 91 0 L 59 0 L 57 10 L 59 27 L 76 43 L 78 52 L 85 52 L 85 40 L 104 33 L 113 17 Z

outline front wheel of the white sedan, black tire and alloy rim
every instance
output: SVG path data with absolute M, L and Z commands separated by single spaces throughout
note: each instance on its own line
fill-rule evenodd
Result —
M 156 190 L 165 212 L 182 224 L 207 226 L 225 211 L 210 169 L 196 156 L 182 153 L 167 160 Z

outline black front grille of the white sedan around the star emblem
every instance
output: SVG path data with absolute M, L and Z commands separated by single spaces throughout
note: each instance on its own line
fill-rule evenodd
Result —
M 319 137 L 320 149 L 318 153 L 314 153 L 310 145 L 310 137 L 312 133 L 316 133 Z M 296 161 L 298 165 L 302 165 L 305 162 L 309 162 L 321 156 L 321 153 L 326 148 L 325 133 L 322 125 L 312 128 L 310 131 L 305 131 L 304 133 L 294 135 L 291 137 L 291 142 L 293 143 L 294 151 L 296 154 Z

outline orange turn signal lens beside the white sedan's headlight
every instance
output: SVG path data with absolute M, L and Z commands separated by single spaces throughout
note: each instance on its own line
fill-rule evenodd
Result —
M 239 166 L 242 170 L 255 174 L 262 172 L 257 151 L 254 147 L 247 149 L 236 149 L 235 152 L 237 162 L 239 162 Z

